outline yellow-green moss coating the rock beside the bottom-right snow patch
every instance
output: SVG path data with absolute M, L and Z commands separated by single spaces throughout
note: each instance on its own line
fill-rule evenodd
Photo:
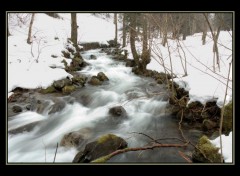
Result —
M 207 136 L 202 136 L 199 139 L 199 142 L 197 144 L 198 149 L 201 151 L 198 153 L 199 157 L 202 157 L 204 159 L 199 159 L 205 162 L 221 162 L 221 155 L 218 153 L 219 148 L 215 147 L 208 139 Z M 204 157 L 207 158 L 205 158 Z

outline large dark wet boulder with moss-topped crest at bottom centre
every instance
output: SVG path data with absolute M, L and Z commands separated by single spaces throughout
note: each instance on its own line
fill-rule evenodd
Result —
M 96 141 L 88 143 L 85 149 L 74 157 L 74 163 L 89 163 L 102 156 L 106 156 L 118 149 L 127 147 L 127 142 L 114 134 L 99 137 Z

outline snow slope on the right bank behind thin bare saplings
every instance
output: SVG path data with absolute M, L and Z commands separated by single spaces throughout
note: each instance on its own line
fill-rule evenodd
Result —
M 216 72 L 213 72 L 213 40 L 209 37 L 206 39 L 206 44 L 202 45 L 202 35 L 194 34 L 187 37 L 185 41 L 180 41 L 187 59 L 188 76 L 183 77 L 184 70 L 181 64 L 181 57 L 184 64 L 184 53 L 181 49 L 177 49 L 177 42 L 169 39 L 169 47 L 171 51 L 173 73 L 177 76 L 174 81 L 180 87 L 189 91 L 190 102 L 200 101 L 205 104 L 207 101 L 216 100 L 219 107 L 223 106 L 224 95 L 226 91 L 227 76 L 229 62 L 232 60 L 232 36 L 231 32 L 221 31 L 219 36 L 219 55 L 220 55 L 220 71 L 218 67 Z M 147 65 L 148 69 L 164 72 L 161 65 L 162 61 L 158 56 L 164 59 L 165 66 L 170 70 L 169 53 L 167 45 L 163 47 L 159 43 L 159 39 L 153 41 L 151 62 Z M 224 45 L 224 46 L 222 46 Z M 229 49 L 227 49 L 227 48 Z M 232 99 L 232 69 L 230 71 L 229 88 L 226 97 L 226 103 Z

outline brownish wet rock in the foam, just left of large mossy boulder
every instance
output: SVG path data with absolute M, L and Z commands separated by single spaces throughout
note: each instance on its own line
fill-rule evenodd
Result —
M 83 128 L 78 131 L 73 131 L 65 134 L 60 142 L 60 146 L 64 147 L 79 147 L 92 136 L 90 128 Z

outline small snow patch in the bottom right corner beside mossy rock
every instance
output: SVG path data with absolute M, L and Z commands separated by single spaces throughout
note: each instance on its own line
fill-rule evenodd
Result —
M 220 148 L 220 137 L 212 140 L 211 143 Z M 232 163 L 232 132 L 228 136 L 222 135 L 222 150 L 224 161 Z M 219 153 L 221 153 L 220 149 Z

